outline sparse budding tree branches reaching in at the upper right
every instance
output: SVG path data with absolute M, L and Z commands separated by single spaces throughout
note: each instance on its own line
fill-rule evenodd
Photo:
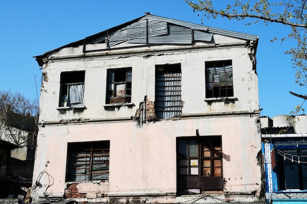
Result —
M 185 2 L 194 12 L 198 12 L 198 15 L 204 12 L 205 18 L 215 19 L 220 16 L 238 21 L 250 19 L 250 23 L 246 24 L 263 22 L 265 25 L 279 23 L 290 26 L 291 31 L 279 40 L 283 42 L 292 39 L 295 42 L 294 47 L 285 54 L 291 55 L 293 68 L 296 69 L 296 83 L 307 87 L 307 0 L 199 0 L 197 3 L 185 0 Z M 274 38 L 271 41 L 276 40 L 278 39 Z M 293 95 L 307 99 L 307 95 Z M 295 112 L 299 110 L 296 109 Z

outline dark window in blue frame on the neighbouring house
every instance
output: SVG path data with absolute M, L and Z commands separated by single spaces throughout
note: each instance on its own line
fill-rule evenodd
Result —
M 307 150 L 277 150 L 279 190 L 307 190 Z

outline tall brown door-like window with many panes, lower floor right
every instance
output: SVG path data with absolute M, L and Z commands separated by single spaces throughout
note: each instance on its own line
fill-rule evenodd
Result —
M 221 136 L 177 139 L 178 193 L 222 190 Z

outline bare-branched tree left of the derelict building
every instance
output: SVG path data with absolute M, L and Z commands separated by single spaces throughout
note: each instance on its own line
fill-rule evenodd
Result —
M 0 139 L 35 147 L 39 108 L 20 92 L 0 91 Z

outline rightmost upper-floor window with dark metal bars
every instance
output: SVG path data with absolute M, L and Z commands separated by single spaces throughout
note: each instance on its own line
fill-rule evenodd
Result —
M 206 98 L 233 96 L 232 61 L 205 63 Z

